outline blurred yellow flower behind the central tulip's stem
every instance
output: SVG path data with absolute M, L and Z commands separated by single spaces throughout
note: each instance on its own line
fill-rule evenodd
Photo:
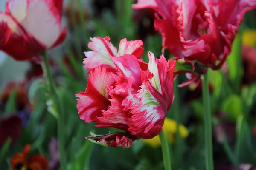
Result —
M 180 136 L 186 138 L 189 136 L 189 130 L 184 125 L 179 125 Z M 166 134 L 166 138 L 170 143 L 175 142 L 175 133 L 177 132 L 177 123 L 175 120 L 165 118 L 163 124 L 163 131 Z M 159 147 L 161 145 L 159 136 L 155 136 L 152 139 L 142 139 L 145 144 L 150 145 L 151 147 Z

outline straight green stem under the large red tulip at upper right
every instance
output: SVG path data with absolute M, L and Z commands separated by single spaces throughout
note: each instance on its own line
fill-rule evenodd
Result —
M 207 74 L 203 75 L 203 104 L 204 104 L 204 142 L 206 170 L 213 170 L 212 156 L 212 115 L 210 108 L 210 95 Z

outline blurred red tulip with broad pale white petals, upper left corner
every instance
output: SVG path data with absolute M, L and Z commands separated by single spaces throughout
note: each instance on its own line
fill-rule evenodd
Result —
M 11 34 L 2 50 L 16 60 L 27 60 L 64 41 L 61 28 L 63 0 L 9 0 L 0 20 Z

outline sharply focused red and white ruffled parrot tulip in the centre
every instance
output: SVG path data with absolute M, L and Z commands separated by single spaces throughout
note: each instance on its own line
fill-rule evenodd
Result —
M 151 139 L 163 127 L 174 99 L 175 61 L 162 55 L 156 59 L 148 52 L 149 63 L 141 59 L 143 43 L 123 39 L 119 51 L 109 38 L 93 38 L 85 52 L 90 68 L 85 92 L 76 94 L 80 119 L 96 122 L 95 127 L 114 127 L 124 132 L 87 137 L 108 146 L 131 147 L 140 138 Z

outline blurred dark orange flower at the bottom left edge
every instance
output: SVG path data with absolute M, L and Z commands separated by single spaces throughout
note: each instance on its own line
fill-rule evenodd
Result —
M 28 157 L 29 150 L 30 146 L 26 145 L 22 153 L 16 153 L 12 157 L 12 170 L 49 170 L 47 159 L 41 155 Z

